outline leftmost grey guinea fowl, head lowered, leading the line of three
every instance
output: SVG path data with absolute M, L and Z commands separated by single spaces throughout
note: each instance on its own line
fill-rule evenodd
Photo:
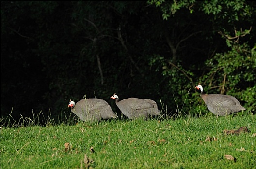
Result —
M 100 121 L 118 117 L 103 99 L 82 99 L 76 104 L 70 99 L 68 107 L 71 107 L 71 111 L 83 121 Z

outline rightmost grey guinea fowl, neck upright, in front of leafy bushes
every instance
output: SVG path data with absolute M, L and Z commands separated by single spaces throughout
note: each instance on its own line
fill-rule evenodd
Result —
M 195 88 L 201 91 L 201 97 L 204 100 L 207 108 L 215 115 L 224 116 L 245 110 L 245 108 L 241 106 L 240 102 L 233 96 L 205 94 L 203 92 L 203 87 L 200 84 L 198 84 Z

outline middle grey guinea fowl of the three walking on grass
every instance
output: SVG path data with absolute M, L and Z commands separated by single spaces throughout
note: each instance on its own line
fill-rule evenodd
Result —
M 157 103 L 150 99 L 128 98 L 119 100 L 118 96 L 114 94 L 111 99 L 115 99 L 117 107 L 129 119 L 136 119 L 144 117 L 148 119 L 149 116 L 161 115 Z

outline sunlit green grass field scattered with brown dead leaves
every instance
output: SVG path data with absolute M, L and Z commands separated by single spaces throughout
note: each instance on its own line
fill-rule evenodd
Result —
M 223 134 L 224 129 L 242 126 L 251 132 Z M 79 121 L 2 127 L 0 132 L 1 169 L 256 168 L 256 115 L 252 114 Z

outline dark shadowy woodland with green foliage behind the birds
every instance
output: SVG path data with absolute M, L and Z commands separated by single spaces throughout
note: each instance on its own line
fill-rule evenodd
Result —
M 113 93 L 153 99 L 169 115 L 204 114 L 199 82 L 255 112 L 253 1 L 0 3 L 1 119 L 61 120 L 84 95 L 120 114 Z

